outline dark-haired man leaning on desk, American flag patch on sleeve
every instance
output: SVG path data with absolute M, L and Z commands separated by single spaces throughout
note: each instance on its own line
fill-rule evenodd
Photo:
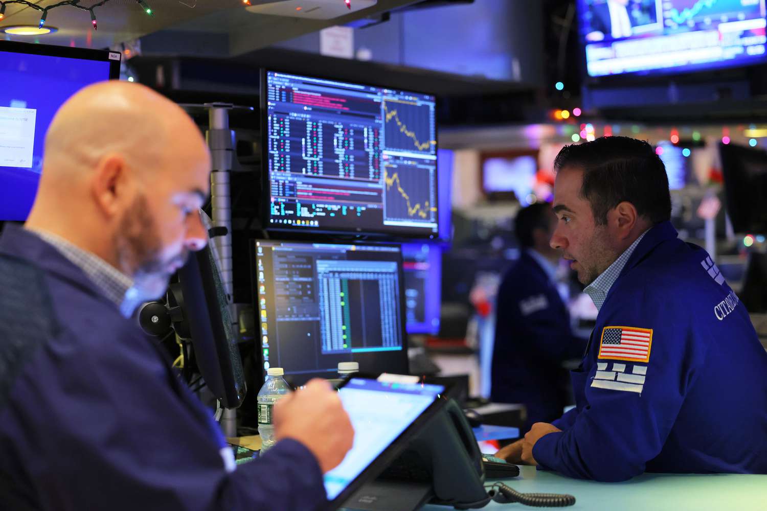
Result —
M 551 246 L 599 310 L 576 408 L 499 452 L 571 477 L 767 473 L 767 353 L 706 251 L 671 226 L 663 162 L 609 137 L 559 153 Z

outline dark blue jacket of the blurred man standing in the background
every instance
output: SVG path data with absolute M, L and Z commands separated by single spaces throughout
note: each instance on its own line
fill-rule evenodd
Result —
M 524 431 L 561 417 L 568 405 L 568 372 L 561 363 L 580 359 L 586 341 L 572 335 L 555 283 L 527 251 L 505 274 L 495 310 L 492 401 L 523 403 Z

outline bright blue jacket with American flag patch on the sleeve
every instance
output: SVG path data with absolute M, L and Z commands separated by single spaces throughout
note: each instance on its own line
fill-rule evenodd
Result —
M 644 236 L 597 316 L 576 408 L 532 454 L 571 477 L 767 473 L 767 353 L 709 254 Z

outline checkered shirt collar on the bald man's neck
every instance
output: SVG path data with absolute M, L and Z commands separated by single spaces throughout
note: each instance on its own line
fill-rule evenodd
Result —
M 45 231 L 29 229 L 37 234 L 43 241 L 53 245 L 74 266 L 84 271 L 91 282 L 104 293 L 104 296 L 117 305 L 122 306 L 125 293 L 133 286 L 133 279 L 117 270 L 114 266 L 101 259 L 96 254 L 84 251 L 80 247 L 71 244 L 64 238 Z

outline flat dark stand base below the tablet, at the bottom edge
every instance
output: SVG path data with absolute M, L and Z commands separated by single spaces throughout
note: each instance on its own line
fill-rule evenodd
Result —
M 374 480 L 353 493 L 340 509 L 347 511 L 411 511 L 420 509 L 432 496 L 429 483 Z

